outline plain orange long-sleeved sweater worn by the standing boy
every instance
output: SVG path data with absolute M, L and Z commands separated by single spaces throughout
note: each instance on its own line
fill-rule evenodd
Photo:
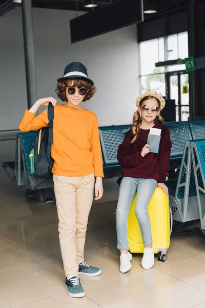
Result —
M 26 110 L 19 129 L 29 131 L 47 126 L 47 113 L 46 109 L 34 117 L 34 113 Z M 51 156 L 52 172 L 57 176 L 83 177 L 95 172 L 95 177 L 104 177 L 96 115 L 87 109 L 56 105 Z

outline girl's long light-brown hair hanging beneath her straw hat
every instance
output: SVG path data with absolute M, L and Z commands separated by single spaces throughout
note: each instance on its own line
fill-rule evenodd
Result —
M 157 101 L 157 104 L 158 104 L 158 108 L 160 109 L 160 102 L 157 98 L 155 97 L 152 97 L 152 96 L 148 96 L 148 97 L 145 97 L 143 98 L 140 102 L 139 102 L 139 107 L 141 107 L 142 103 L 147 101 L 147 100 L 153 100 L 155 99 Z M 154 120 L 154 123 L 161 123 L 163 124 L 163 118 L 161 117 L 161 115 L 157 115 L 156 119 Z M 135 142 L 135 140 L 137 139 L 137 135 L 138 135 L 138 132 L 139 132 L 139 128 L 141 126 L 141 117 L 140 117 L 140 113 L 137 109 L 137 111 L 134 113 L 133 115 L 133 125 L 132 125 L 132 133 L 134 135 L 131 143 Z

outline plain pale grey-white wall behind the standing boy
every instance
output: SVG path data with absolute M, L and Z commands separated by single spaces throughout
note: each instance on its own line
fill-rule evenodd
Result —
M 69 20 L 75 16 L 72 11 L 33 9 L 38 98 L 56 98 L 57 78 L 65 66 L 82 62 L 97 87 L 84 107 L 97 114 L 100 126 L 132 123 L 139 94 L 136 25 L 71 45 Z M 16 129 L 27 109 L 19 7 L 0 17 L 0 29 L 0 130 Z

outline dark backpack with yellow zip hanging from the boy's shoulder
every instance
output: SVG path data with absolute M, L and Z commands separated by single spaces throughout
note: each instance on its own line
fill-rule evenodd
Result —
M 38 178 L 52 178 L 53 159 L 51 157 L 51 144 L 53 143 L 54 107 L 48 105 L 48 126 L 38 129 L 34 145 L 34 175 Z

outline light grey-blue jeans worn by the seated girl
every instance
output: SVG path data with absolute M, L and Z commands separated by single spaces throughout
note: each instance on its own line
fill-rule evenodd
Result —
M 137 217 L 144 245 L 152 244 L 152 233 L 148 205 L 157 181 L 154 179 L 135 179 L 125 177 L 119 188 L 119 199 L 116 209 L 117 248 L 128 250 L 128 215 L 132 200 L 137 191 L 135 215 Z

